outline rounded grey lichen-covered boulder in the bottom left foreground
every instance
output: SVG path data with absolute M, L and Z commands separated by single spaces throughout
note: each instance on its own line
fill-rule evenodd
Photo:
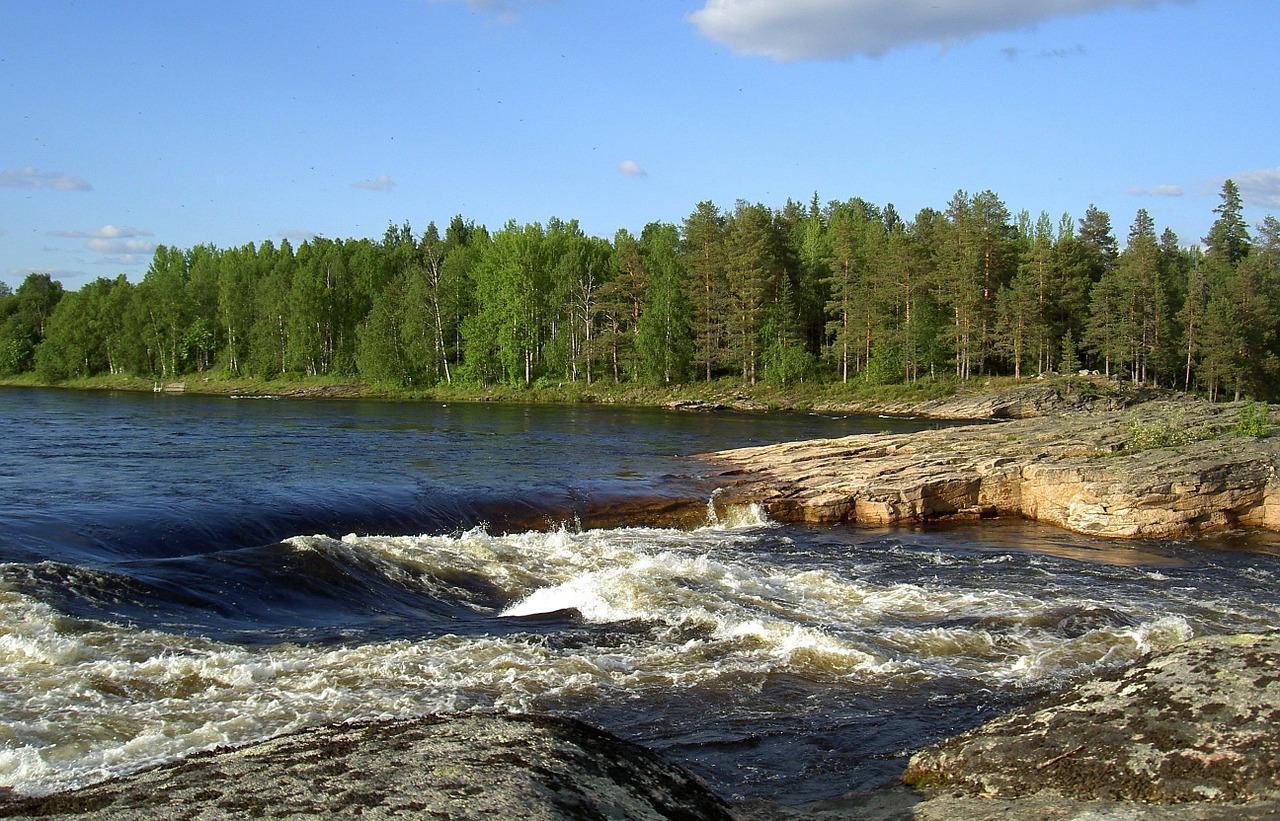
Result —
M 337 725 L 0 804 L 44 818 L 731 818 L 657 753 L 547 716 Z

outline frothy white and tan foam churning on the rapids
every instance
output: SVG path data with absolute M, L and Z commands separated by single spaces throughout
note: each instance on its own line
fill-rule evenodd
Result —
M 945 680 L 1034 688 L 1196 630 L 1126 594 L 1073 593 L 1025 557 L 1024 570 L 1050 579 L 1039 589 L 975 580 L 1015 570 L 992 556 L 785 561 L 771 549 L 787 544 L 759 511 L 692 532 L 289 539 L 424 597 L 452 596 L 494 625 L 351 644 L 247 647 L 74 619 L 0 584 L 0 784 L 46 793 L 342 720 L 579 712 L 682 693 L 714 703 L 778 676 L 867 698 Z M 946 570 L 956 575 L 936 575 Z M 771 708 L 788 706 L 760 710 Z

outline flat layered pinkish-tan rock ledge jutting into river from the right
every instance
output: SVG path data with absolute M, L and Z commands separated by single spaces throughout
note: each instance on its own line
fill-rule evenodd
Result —
M 1170 538 L 1280 529 L 1280 437 L 1239 435 L 1240 403 L 1160 400 L 911 434 L 719 451 L 717 508 L 780 521 L 916 524 L 1021 516 L 1078 533 Z M 1153 447 L 1152 432 L 1185 433 Z

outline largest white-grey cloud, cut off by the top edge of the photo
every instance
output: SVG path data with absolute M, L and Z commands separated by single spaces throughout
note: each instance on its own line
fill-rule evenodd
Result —
M 739 54 L 838 60 L 1172 1 L 1187 0 L 707 0 L 689 19 L 704 37 Z

